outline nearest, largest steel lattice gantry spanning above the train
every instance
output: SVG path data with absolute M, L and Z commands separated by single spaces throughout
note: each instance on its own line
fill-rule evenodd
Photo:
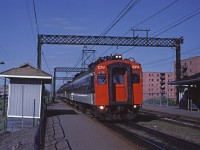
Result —
M 104 46 L 144 46 L 176 48 L 176 80 L 181 78 L 182 38 L 121 37 L 121 36 L 82 36 L 82 35 L 38 35 L 37 66 L 41 69 L 41 46 L 43 44 L 65 45 L 104 45 Z

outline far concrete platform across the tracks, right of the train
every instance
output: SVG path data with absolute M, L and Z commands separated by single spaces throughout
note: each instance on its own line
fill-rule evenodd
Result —
M 193 118 L 200 121 L 200 111 L 190 111 L 190 110 L 179 109 L 178 106 L 166 107 L 166 106 L 143 105 L 141 110 L 167 113 L 174 116 Z

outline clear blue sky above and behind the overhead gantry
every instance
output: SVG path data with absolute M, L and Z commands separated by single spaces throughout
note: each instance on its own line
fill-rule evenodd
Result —
M 137 0 L 0 0 L 0 71 L 30 63 L 37 67 L 37 35 L 101 35 L 130 2 Z M 34 3 L 33 3 L 34 2 Z M 35 13 L 34 5 L 35 4 Z M 36 17 L 35 17 L 36 16 Z M 37 20 L 37 23 L 36 23 Z M 38 30 L 37 30 L 38 28 Z M 145 29 L 149 37 L 180 38 L 181 59 L 200 55 L 199 0 L 138 0 L 106 33 L 133 36 Z M 145 37 L 146 32 L 135 31 Z M 133 57 L 144 72 L 174 71 L 174 48 L 43 45 L 42 70 L 75 67 L 82 50 L 95 50 L 95 58 L 115 53 Z M 81 61 L 78 66 L 81 67 Z M 66 76 L 62 74 L 60 76 Z

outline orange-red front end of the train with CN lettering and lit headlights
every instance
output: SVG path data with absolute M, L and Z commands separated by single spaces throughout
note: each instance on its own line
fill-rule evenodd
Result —
M 141 65 L 113 57 L 95 67 L 95 105 L 106 118 L 134 119 L 142 104 Z

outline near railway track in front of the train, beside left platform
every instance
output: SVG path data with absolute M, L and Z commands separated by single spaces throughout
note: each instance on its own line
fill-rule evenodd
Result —
M 123 135 L 135 144 L 152 150 L 196 150 L 200 145 L 195 144 L 165 133 L 137 125 L 133 122 L 129 123 L 105 123 L 112 130 Z

